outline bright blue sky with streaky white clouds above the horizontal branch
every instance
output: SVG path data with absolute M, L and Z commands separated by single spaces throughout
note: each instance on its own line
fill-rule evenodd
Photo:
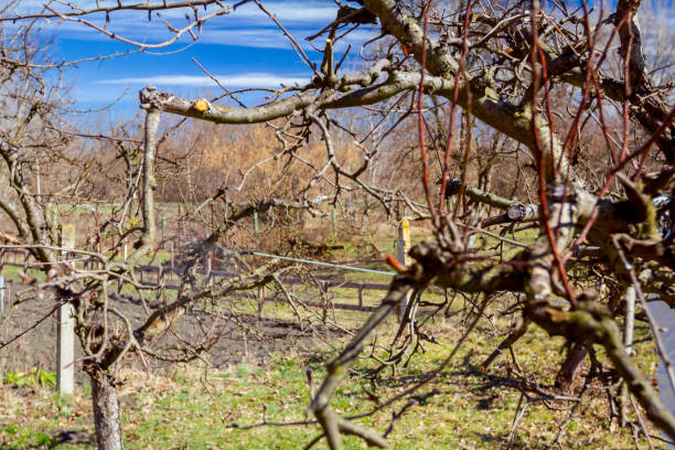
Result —
M 138 0 L 126 3 L 131 2 Z M 154 2 L 160 3 L 161 0 Z M 82 8 L 90 3 L 94 2 L 77 2 Z M 104 0 L 101 3 L 115 4 L 116 0 Z M 23 0 L 20 8 L 22 12 L 36 11 L 41 4 L 41 1 Z M 335 3 L 332 0 L 315 0 L 266 1 L 264 4 L 303 46 L 310 58 L 319 64 L 322 54 L 313 51 L 304 38 L 314 34 L 335 18 Z M 54 8 L 64 11 L 63 7 Z M 110 14 L 108 30 L 135 41 L 158 43 L 171 35 L 162 24 L 162 19 L 169 21 L 172 26 L 182 28 L 188 23 L 184 15 L 189 11 L 165 11 L 161 13 L 162 18 L 153 15 L 151 22 L 148 22 L 147 13 L 122 11 Z M 200 13 L 211 11 L 213 9 L 205 12 L 201 9 Z M 105 23 L 104 14 L 87 19 L 98 25 Z M 344 51 L 350 42 L 362 43 L 376 32 L 374 26 L 360 29 L 350 34 L 338 51 Z M 47 36 L 54 40 L 52 54 L 56 61 L 103 56 L 133 49 L 85 24 L 60 20 L 46 22 L 45 39 Z M 323 39 L 315 41 L 318 45 L 323 42 Z M 352 52 L 357 54 L 358 45 L 354 50 Z M 196 42 L 185 35 L 168 47 L 151 52 L 81 63 L 66 73 L 66 82 L 73 85 L 72 95 L 77 99 L 78 108 L 98 108 L 122 96 L 121 101 L 114 108 L 115 114 L 136 108 L 137 93 L 148 84 L 185 96 L 219 92 L 192 57 L 229 89 L 279 87 L 279 83 L 307 83 L 312 74 L 277 25 L 255 3 L 247 3 L 227 15 L 206 22 Z M 244 96 L 244 99 L 253 105 L 261 101 L 264 96 L 248 95 Z

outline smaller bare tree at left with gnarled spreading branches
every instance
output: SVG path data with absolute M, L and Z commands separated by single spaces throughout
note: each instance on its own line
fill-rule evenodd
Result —
M 2 17 L 8 15 L 11 9 L 3 10 Z M 162 131 L 160 110 L 143 103 L 144 124 L 131 129 L 116 127 L 119 136 L 89 135 L 73 128 L 67 120 L 67 93 L 60 88 L 61 74 L 71 63 L 53 63 L 38 50 L 43 42 L 38 40 L 35 20 L 18 25 L 3 21 L 0 26 L 1 248 L 2 255 L 28 250 L 32 266 L 43 272 L 42 277 L 29 270 L 20 272 L 26 288 L 18 293 L 12 308 L 36 302 L 45 312 L 32 326 L 0 343 L 0 349 L 22 339 L 62 304 L 71 304 L 82 350 L 75 364 L 90 379 L 97 448 L 121 449 L 117 387 L 118 372 L 127 356 L 139 355 L 146 367 L 150 357 L 167 362 L 200 357 L 237 320 L 227 306 L 216 309 L 210 303 L 234 298 L 238 291 L 278 283 L 279 275 L 290 268 L 278 260 L 251 267 L 236 253 L 222 255 L 216 244 L 256 212 L 275 207 L 317 211 L 326 199 L 268 196 L 237 204 L 224 190 L 217 190 L 191 213 L 197 215 L 201 207 L 212 203 L 222 222 L 186 253 L 174 274 L 178 294 L 168 297 L 168 302 L 151 301 L 167 298 L 168 287 L 164 281 L 144 282 L 138 268 L 153 260 L 161 245 L 154 204 L 158 148 L 175 131 L 175 124 Z M 111 147 L 114 161 L 106 160 L 107 156 L 88 157 L 79 147 L 83 139 Z M 104 197 L 95 189 L 100 178 L 93 174 L 93 168 L 101 161 L 109 163 Z M 116 161 L 120 162 L 118 170 Z M 99 205 L 110 205 L 108 213 L 99 212 Z M 93 221 L 78 216 L 82 207 L 93 213 Z M 73 243 L 65 243 L 66 219 L 77 232 L 75 248 Z M 212 279 L 211 264 L 216 255 L 234 260 L 239 274 Z M 170 268 L 168 271 L 171 276 Z M 127 293 L 128 289 L 135 294 Z M 179 319 L 186 314 L 192 329 L 176 331 Z

